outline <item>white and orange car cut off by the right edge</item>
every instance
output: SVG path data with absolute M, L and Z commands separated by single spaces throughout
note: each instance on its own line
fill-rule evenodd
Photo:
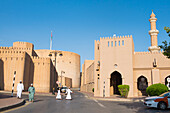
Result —
M 158 109 L 170 108 L 170 92 L 163 93 L 160 96 L 146 97 L 144 105 Z

